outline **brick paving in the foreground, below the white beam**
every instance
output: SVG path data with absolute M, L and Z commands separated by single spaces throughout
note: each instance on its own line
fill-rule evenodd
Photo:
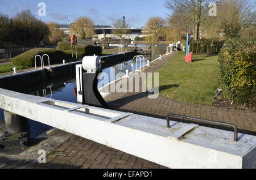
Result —
M 143 160 L 72 135 L 47 156 L 43 168 L 81 168 L 81 169 L 166 169 L 166 167 Z

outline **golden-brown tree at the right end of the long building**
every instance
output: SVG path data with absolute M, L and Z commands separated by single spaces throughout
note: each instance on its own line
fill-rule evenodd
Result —
M 146 24 L 146 31 L 148 33 L 148 36 L 154 37 L 154 42 L 158 41 L 158 36 L 163 30 L 164 23 L 164 19 L 159 16 L 148 19 Z

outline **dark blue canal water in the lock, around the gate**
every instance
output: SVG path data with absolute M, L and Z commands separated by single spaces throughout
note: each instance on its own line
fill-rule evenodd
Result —
M 143 61 L 137 62 L 137 68 L 140 68 L 141 66 L 146 65 L 147 60 L 153 61 L 154 59 L 158 58 L 160 54 L 161 55 L 166 54 L 166 46 L 152 45 L 151 51 L 152 51 L 151 55 L 144 55 L 145 57 L 144 62 Z M 109 82 L 111 82 L 110 80 L 111 72 L 115 72 L 115 74 L 117 74 L 118 72 L 125 73 L 126 70 L 129 70 L 129 72 L 132 72 L 136 68 L 135 61 L 133 66 L 132 64 L 133 62 L 130 59 L 129 61 L 123 61 L 118 64 L 110 65 L 110 67 L 104 68 L 102 72 L 105 72 L 106 74 L 109 75 Z M 98 83 L 100 82 L 101 80 L 99 80 Z M 52 79 L 51 81 L 48 81 L 48 82 L 36 83 L 36 84 L 28 85 L 26 87 L 19 87 L 19 88 L 10 89 L 10 90 L 20 92 L 20 93 L 26 93 L 28 95 L 48 97 L 48 98 L 53 98 L 55 100 L 77 103 L 77 98 L 75 96 L 75 90 L 76 90 L 75 74 L 71 76 L 59 78 L 59 79 Z M 0 121 L 3 121 L 3 119 L 4 119 L 3 110 L 0 109 Z M 52 129 L 52 127 L 49 127 L 42 123 L 31 121 L 31 120 L 28 120 L 28 124 L 30 126 L 30 138 L 41 138 L 44 136 L 44 134 L 48 130 Z

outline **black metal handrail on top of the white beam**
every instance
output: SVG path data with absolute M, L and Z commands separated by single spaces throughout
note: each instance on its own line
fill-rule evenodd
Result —
M 225 126 L 225 127 L 233 128 L 233 130 L 234 130 L 234 141 L 237 142 L 238 131 L 237 131 L 237 126 L 236 125 L 233 125 L 233 124 L 230 124 L 230 123 L 210 121 L 210 120 L 207 120 L 207 119 L 194 118 L 194 117 L 189 117 L 189 116 L 186 116 L 186 115 L 179 115 L 179 114 L 170 113 L 170 114 L 167 114 L 167 128 L 170 128 L 170 121 L 171 121 L 170 118 L 173 118 L 173 117 L 191 119 L 191 120 L 198 121 L 200 123 L 206 123 L 208 125 L 219 125 L 219 126 Z M 176 119 L 175 119 L 175 121 L 176 121 Z

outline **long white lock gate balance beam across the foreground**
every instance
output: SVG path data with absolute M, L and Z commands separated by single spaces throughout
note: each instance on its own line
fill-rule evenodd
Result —
M 256 136 L 0 89 L 0 108 L 168 168 L 256 168 Z M 47 113 L 46 113 L 47 112 Z

